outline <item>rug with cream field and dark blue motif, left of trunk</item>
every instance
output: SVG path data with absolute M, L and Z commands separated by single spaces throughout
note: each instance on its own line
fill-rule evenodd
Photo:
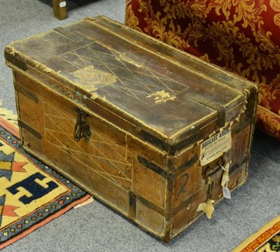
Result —
M 0 249 L 89 197 L 25 153 L 18 128 L 0 116 Z

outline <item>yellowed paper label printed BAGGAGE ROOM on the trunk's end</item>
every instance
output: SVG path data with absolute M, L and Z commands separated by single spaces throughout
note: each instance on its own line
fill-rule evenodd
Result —
M 207 165 L 228 151 L 232 146 L 230 129 L 221 130 L 200 145 L 200 164 Z

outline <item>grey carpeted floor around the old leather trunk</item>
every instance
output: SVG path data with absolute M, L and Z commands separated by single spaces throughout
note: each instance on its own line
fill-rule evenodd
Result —
M 69 18 L 52 15 L 51 0 L 0 0 L 0 100 L 15 111 L 13 79 L 5 45 L 96 15 L 124 22 L 125 0 L 69 2 Z M 280 142 L 255 132 L 248 181 L 169 244 L 139 230 L 98 201 L 71 210 L 4 248 L 8 251 L 231 251 L 280 214 Z

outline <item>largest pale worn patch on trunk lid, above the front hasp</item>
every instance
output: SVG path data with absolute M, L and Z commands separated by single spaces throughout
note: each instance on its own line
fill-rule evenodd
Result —
M 74 71 L 73 76 L 78 78 L 77 83 L 89 92 L 93 92 L 99 87 L 113 85 L 117 81 L 113 74 L 94 69 L 94 66 L 91 65 Z

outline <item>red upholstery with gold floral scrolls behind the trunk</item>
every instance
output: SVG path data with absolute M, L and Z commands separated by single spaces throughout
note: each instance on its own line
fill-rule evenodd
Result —
M 257 126 L 280 139 L 280 0 L 127 0 L 126 24 L 258 83 Z

